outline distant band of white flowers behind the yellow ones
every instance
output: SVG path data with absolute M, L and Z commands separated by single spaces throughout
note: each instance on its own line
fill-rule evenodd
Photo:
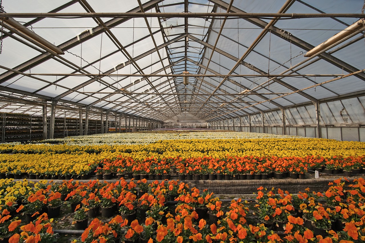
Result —
M 256 132 L 215 132 L 215 131 L 181 131 L 181 133 L 161 132 L 131 132 L 109 133 L 85 136 L 74 136 L 60 139 L 47 139 L 43 142 L 58 142 L 69 145 L 130 145 L 149 144 L 159 140 L 171 139 L 255 139 L 255 138 L 303 138 L 301 136 L 276 135 Z

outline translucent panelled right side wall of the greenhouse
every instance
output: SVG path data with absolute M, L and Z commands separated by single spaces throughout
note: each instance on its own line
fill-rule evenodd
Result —
M 215 129 L 365 142 L 365 96 L 211 121 Z M 320 120 L 318 124 L 317 116 Z M 285 123 L 283 123 L 285 117 Z

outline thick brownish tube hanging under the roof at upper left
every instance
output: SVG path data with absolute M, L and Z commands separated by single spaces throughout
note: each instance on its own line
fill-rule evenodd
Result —
M 25 27 L 24 25 L 20 24 L 18 21 L 14 20 L 13 18 L 3 18 L 1 23 L 4 22 L 4 28 L 14 32 L 21 36 L 22 38 L 28 40 L 29 42 L 33 43 L 34 45 L 41 47 L 42 49 L 48 51 L 52 54 L 65 54 L 59 47 L 53 45 L 46 39 L 42 38 L 41 36 L 35 34 L 33 31 Z

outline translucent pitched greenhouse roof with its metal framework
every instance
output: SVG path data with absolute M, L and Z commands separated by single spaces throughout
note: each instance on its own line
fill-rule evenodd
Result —
M 2 0 L 0 111 L 41 115 L 57 102 L 155 121 L 252 115 L 253 124 L 264 113 L 275 126 L 285 110 L 291 126 L 315 124 L 318 104 L 323 124 L 364 124 L 364 23 L 351 27 L 363 5 Z

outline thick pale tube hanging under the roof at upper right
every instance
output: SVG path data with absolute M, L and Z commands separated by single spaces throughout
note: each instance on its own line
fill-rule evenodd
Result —
M 364 21 L 364 19 L 360 19 L 360 20 L 356 21 L 355 23 L 351 24 L 349 27 L 345 28 L 345 30 L 338 32 L 337 34 L 335 34 L 334 36 L 332 36 L 325 42 L 319 44 L 318 46 L 314 47 L 312 50 L 308 51 L 304 55 L 304 57 L 311 57 L 312 55 L 319 53 L 320 51 L 326 49 L 328 46 L 331 46 L 338 41 L 341 41 L 341 40 L 345 41 L 344 39 L 347 36 L 353 34 L 356 31 L 361 32 L 362 30 L 364 30 L 363 21 Z M 341 42 L 339 42 L 339 43 L 341 43 Z

